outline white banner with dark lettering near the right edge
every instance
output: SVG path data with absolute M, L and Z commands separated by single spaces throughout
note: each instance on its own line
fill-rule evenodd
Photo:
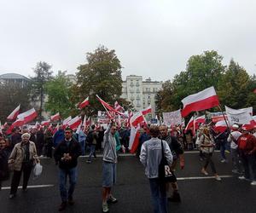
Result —
M 253 115 L 253 107 L 243 109 L 232 109 L 225 106 L 230 125 L 233 124 L 250 124 Z

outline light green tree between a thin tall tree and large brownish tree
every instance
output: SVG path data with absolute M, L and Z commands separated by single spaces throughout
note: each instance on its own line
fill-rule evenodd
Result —
M 51 114 L 60 112 L 62 118 L 67 118 L 75 108 L 71 101 L 73 83 L 69 80 L 66 72 L 58 74 L 45 84 L 47 101 L 45 110 Z

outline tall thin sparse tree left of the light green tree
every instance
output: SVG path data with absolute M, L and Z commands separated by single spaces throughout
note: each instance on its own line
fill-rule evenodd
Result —
M 42 119 L 44 98 L 45 98 L 45 84 L 52 78 L 51 66 L 46 62 L 38 62 L 34 68 L 36 76 L 32 78 L 32 102 L 37 105 L 39 101 L 38 117 Z

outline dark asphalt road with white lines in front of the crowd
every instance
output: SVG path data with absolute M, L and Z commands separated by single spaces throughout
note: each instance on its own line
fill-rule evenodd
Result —
M 230 158 L 230 156 L 229 156 Z M 102 158 L 86 164 L 79 158 L 79 180 L 73 198 L 75 204 L 63 212 L 102 212 Z M 219 153 L 213 156 L 222 181 L 201 174 L 202 162 L 197 153 L 185 154 L 185 169 L 177 170 L 178 186 L 182 197 L 180 204 L 168 203 L 169 212 L 256 212 L 256 187 L 249 181 L 238 180 L 231 173 L 231 164 L 219 162 Z M 0 213 L 7 212 L 58 212 L 61 204 L 58 190 L 58 168 L 53 159 L 42 159 L 44 166 L 38 180 L 29 181 L 27 193 L 18 190 L 15 199 L 9 199 L 9 183 L 3 182 L 0 191 Z M 134 156 L 119 156 L 117 184 L 113 195 L 119 200 L 110 206 L 110 212 L 153 212 L 148 179 L 143 165 Z

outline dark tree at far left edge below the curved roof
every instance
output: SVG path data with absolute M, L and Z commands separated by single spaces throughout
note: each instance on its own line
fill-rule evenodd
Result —
M 0 83 L 0 120 L 4 122 L 20 104 L 20 112 L 28 110 L 30 106 L 30 87 L 19 83 Z M 3 124 L 3 123 L 2 123 Z

